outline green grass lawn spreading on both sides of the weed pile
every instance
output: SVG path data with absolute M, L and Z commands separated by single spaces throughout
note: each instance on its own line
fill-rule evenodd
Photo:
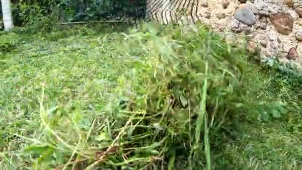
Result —
M 120 38 L 111 27 L 47 34 L 0 34 L 2 40 L 14 39 L 14 46 L 6 46 L 11 50 L 3 50 L 0 57 L 2 170 L 49 169 L 71 163 L 71 155 L 93 158 L 97 141 L 105 135 L 99 119 L 114 107 L 108 101 L 116 98 L 115 87 L 130 69 L 115 53 Z M 239 131 L 234 140 L 224 142 L 221 153 L 214 153 L 216 169 L 302 169 L 302 89 L 289 82 L 301 77 L 253 62 L 246 77 L 247 105 L 234 118 Z M 264 121 L 265 111 L 256 108 L 272 102 L 285 103 L 287 113 Z

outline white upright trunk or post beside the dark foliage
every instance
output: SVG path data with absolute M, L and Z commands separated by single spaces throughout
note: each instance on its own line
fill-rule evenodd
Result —
M 10 0 L 1 0 L 1 6 L 2 6 L 4 30 L 9 31 L 14 27 L 12 21 L 11 9 L 10 9 Z

